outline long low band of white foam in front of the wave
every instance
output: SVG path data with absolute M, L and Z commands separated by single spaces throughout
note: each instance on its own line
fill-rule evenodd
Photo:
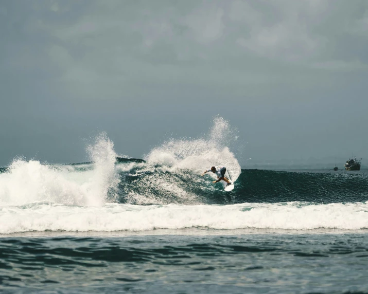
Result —
M 28 231 L 148 231 L 205 227 L 216 230 L 368 228 L 368 202 L 236 205 L 109 204 L 103 207 L 33 204 L 0 209 L 0 233 Z

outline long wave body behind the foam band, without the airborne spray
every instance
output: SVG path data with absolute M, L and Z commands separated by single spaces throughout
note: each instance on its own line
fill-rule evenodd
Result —
M 101 154 L 104 154 L 101 152 Z M 114 154 L 113 154 L 114 155 Z M 106 163 L 107 162 L 107 163 Z M 201 176 L 203 167 L 143 159 L 47 165 L 16 160 L 0 174 L 0 206 L 48 201 L 65 205 L 102 206 L 106 203 L 238 204 L 307 201 L 356 203 L 368 199 L 368 174 L 241 170 L 232 192 L 214 185 L 213 175 Z M 191 164 L 191 163 L 190 163 Z M 202 170 L 200 169 L 202 167 Z

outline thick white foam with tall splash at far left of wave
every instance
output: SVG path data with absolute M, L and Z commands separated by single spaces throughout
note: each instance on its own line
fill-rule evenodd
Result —
M 0 174 L 0 205 L 20 206 L 41 201 L 102 206 L 118 182 L 113 143 L 101 134 L 87 151 L 94 163 L 93 168 L 83 172 L 76 172 L 75 166 L 14 160 L 9 171 Z

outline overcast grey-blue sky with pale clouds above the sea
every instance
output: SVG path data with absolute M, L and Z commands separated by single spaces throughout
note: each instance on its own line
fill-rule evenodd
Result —
M 0 37 L 0 166 L 99 132 L 142 158 L 217 115 L 242 158 L 368 161 L 365 0 L 3 0 Z

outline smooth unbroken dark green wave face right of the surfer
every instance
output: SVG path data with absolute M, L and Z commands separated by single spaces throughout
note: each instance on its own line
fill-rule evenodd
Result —
M 368 173 L 242 170 L 236 201 L 313 203 L 364 202 Z

